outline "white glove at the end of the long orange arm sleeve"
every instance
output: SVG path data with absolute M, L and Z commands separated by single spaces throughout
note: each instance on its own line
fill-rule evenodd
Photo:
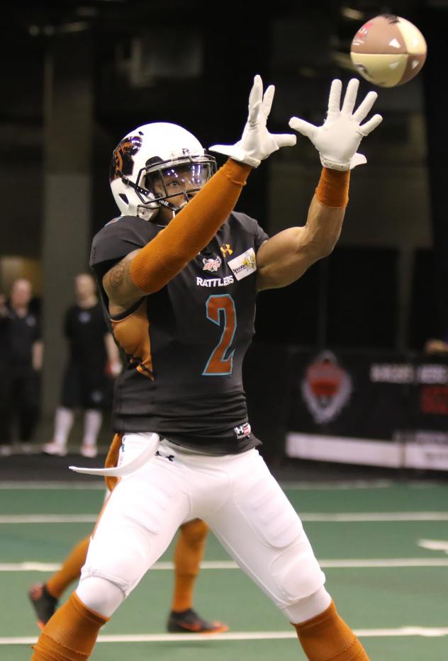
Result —
M 274 85 L 269 85 L 263 95 L 263 81 L 258 75 L 255 76 L 249 96 L 249 115 L 241 140 L 235 145 L 213 145 L 209 148 L 210 151 L 258 167 L 263 159 L 267 159 L 280 147 L 293 147 L 297 142 L 296 135 L 291 133 L 272 135 L 266 128 L 274 91 Z

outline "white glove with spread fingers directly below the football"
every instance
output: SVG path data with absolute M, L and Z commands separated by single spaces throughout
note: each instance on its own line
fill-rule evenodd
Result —
M 289 120 L 289 125 L 293 130 L 306 135 L 313 142 L 320 154 L 320 162 L 327 168 L 351 170 L 357 165 L 367 162 L 363 154 L 357 154 L 359 142 L 364 135 L 369 135 L 383 118 L 381 115 L 374 115 L 368 122 L 361 125 L 362 120 L 366 118 L 374 105 L 378 94 L 369 92 L 357 111 L 353 113 L 358 87 L 359 80 L 352 78 L 347 85 L 341 109 L 342 82 L 337 79 L 332 81 L 327 118 L 322 126 L 315 126 L 298 117 L 291 117 Z

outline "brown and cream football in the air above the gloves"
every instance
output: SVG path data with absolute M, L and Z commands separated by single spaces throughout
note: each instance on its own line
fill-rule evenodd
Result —
M 360 76 L 379 87 L 396 87 L 413 79 L 426 60 L 426 41 L 401 16 L 383 14 L 359 28 L 350 57 Z

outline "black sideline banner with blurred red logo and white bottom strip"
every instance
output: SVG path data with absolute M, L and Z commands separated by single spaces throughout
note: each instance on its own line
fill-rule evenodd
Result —
M 288 456 L 448 470 L 448 357 L 259 344 L 247 372 L 254 431 Z

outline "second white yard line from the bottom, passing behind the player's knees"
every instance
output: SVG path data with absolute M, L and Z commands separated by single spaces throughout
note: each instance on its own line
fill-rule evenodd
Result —
M 352 560 L 319 560 L 319 565 L 327 569 L 355 569 L 357 567 L 363 567 L 365 569 L 375 569 L 377 567 L 448 567 L 448 558 L 354 558 Z M 55 572 L 60 566 L 60 563 L 37 563 L 33 561 L 25 563 L 0 563 L 0 572 Z M 150 571 L 171 571 L 173 569 L 173 563 L 162 561 L 155 563 Z M 201 563 L 201 569 L 228 570 L 239 569 L 239 567 L 233 560 L 205 560 Z

